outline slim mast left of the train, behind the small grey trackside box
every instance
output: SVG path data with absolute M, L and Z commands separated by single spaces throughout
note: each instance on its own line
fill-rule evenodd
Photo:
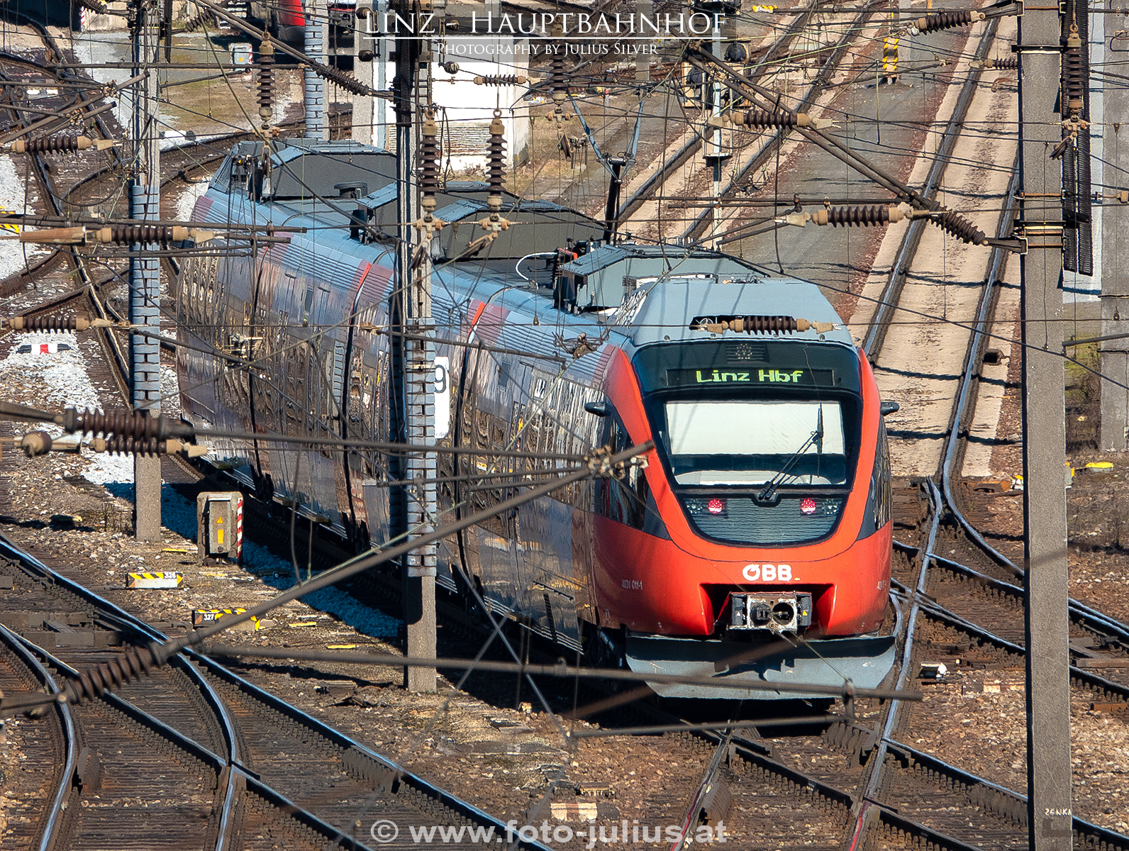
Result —
M 140 0 L 133 28 L 134 74 L 158 61 L 158 7 Z M 157 72 L 135 86 L 132 137 L 137 147 L 137 172 L 130 179 L 130 218 L 160 221 L 160 147 L 157 115 Z M 140 252 L 156 252 L 158 245 L 130 245 L 130 322 L 158 330 L 160 324 L 160 261 Z M 133 407 L 150 416 L 160 414 L 160 345 L 156 339 L 130 335 L 130 361 L 133 374 Z M 134 534 L 138 541 L 160 541 L 160 457 L 138 455 L 133 462 Z

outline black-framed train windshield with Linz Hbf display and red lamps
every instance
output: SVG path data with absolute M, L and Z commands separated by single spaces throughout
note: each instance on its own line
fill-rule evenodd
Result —
M 861 439 L 854 350 L 680 343 L 640 350 L 634 367 L 663 465 L 700 534 L 793 546 L 834 532 Z

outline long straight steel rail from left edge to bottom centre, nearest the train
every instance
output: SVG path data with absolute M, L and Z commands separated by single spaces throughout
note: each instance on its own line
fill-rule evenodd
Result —
M 145 621 L 134 617 L 130 613 L 119 607 L 116 604 L 111 603 L 110 600 L 99 596 L 95 591 L 91 591 L 89 588 L 86 588 L 85 586 L 52 570 L 43 562 L 41 562 L 38 559 L 33 556 L 30 553 L 25 552 L 16 544 L 14 544 L 11 541 L 9 541 L 7 536 L 5 536 L 2 533 L 0 533 L 0 555 L 6 555 L 12 561 L 18 562 L 30 574 L 37 576 L 41 579 L 49 581 L 53 585 L 58 585 L 61 588 L 68 590 L 69 593 L 80 597 L 81 599 L 86 600 L 88 604 L 93 605 L 102 613 L 104 613 L 105 616 L 116 620 L 119 623 L 121 623 L 124 626 L 128 626 L 130 630 L 134 630 L 138 635 L 143 637 L 147 640 L 151 641 L 168 640 L 166 635 L 164 635 L 161 632 L 154 629 L 149 624 L 145 623 Z M 376 753 L 368 746 L 355 739 L 349 738 L 341 731 L 330 727 L 329 725 L 318 720 L 317 718 L 314 718 L 313 716 L 303 712 L 297 707 L 287 703 L 282 699 L 277 698 L 270 692 L 260 688 L 253 683 L 228 670 L 226 667 L 224 667 L 216 660 L 200 652 L 196 652 L 195 650 L 192 649 L 185 649 L 182 652 L 185 655 L 187 659 L 191 659 L 192 661 L 207 668 L 208 672 L 215 675 L 217 678 L 222 679 L 236 686 L 243 692 L 250 694 L 254 700 L 266 704 L 268 707 L 274 709 L 275 711 L 281 712 L 282 714 L 289 718 L 292 718 L 301 722 L 303 725 L 313 729 L 320 736 L 333 742 L 340 747 L 357 753 L 361 758 L 371 761 L 382 770 L 388 771 L 395 777 L 400 778 L 401 782 L 409 783 L 410 786 L 418 789 L 420 792 L 431 798 L 432 800 L 439 801 L 448 809 L 460 813 L 466 818 L 475 819 L 480 824 L 493 825 L 496 830 L 505 833 L 506 823 L 490 815 L 485 810 L 482 810 L 479 807 L 475 807 L 473 804 L 464 801 L 450 795 L 449 792 L 440 789 L 439 787 L 434 786 L 432 783 L 428 782 L 418 774 L 414 774 L 411 771 L 402 767 L 399 763 L 395 763 L 392 760 L 382 756 L 380 754 Z M 239 771 L 243 772 L 244 774 L 247 774 L 250 772 L 251 775 L 257 777 L 255 772 L 242 767 L 242 764 L 239 766 Z M 254 780 L 254 777 L 250 777 L 250 779 Z M 262 781 L 257 782 L 261 783 Z M 265 784 L 263 786 L 265 788 Z M 280 800 L 286 800 L 285 796 L 281 796 L 278 792 L 272 792 L 272 793 L 278 796 Z M 297 807 L 297 809 L 300 810 L 300 807 Z M 312 817 L 316 818 L 316 816 Z M 541 844 L 540 842 L 526 842 L 522 840 L 520 846 L 533 849 L 534 851 L 552 851 L 552 849 Z

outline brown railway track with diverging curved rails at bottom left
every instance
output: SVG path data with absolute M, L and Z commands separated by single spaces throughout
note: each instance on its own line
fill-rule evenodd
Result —
M 55 679 L 108 661 L 120 644 L 164 639 L 7 539 L 0 541 L 0 556 L 18 590 L 5 598 L 0 618 L 27 633 L 23 639 L 15 630 L 6 634 L 37 655 Z M 55 647 L 44 647 L 50 639 Z M 169 668 L 70 711 L 96 764 L 86 788 L 70 789 L 67 811 L 80 817 L 58 827 L 68 848 L 110 846 L 99 842 L 102 835 L 135 836 L 158 846 L 152 844 L 155 815 L 184 826 L 168 834 L 176 848 L 185 846 L 185 836 L 192 841 L 187 846 L 199 842 L 201 848 L 227 848 L 236 836 L 244 848 L 263 846 L 264 836 L 268 845 L 291 837 L 300 840 L 297 846 L 366 848 L 374 844 L 369 825 L 380 819 L 403 833 L 392 843 L 380 842 L 391 848 L 413 846 L 410 826 L 493 828 L 491 835 L 505 835 L 504 823 L 191 651 Z M 303 770 L 295 771 L 296 765 Z M 128 806 L 82 804 L 99 789 L 99 801 L 137 806 L 122 815 Z M 158 795 L 164 804 L 154 800 Z M 134 818 L 138 813 L 143 817 Z M 208 824 L 205 835 L 200 835 L 201 822 Z M 514 846 L 543 848 L 536 842 Z

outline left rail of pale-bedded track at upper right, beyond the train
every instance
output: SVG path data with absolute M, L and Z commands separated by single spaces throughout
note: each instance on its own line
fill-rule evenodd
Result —
M 999 18 L 992 18 L 988 21 L 983 34 L 980 36 L 980 44 L 977 47 L 978 56 L 987 55 L 998 29 Z M 925 195 L 926 199 L 929 199 L 927 207 L 930 210 L 939 208 L 939 204 L 931 199 L 937 192 L 937 187 L 945 174 L 945 169 L 948 168 L 948 161 L 953 156 L 956 141 L 961 137 L 964 119 L 969 113 L 969 106 L 972 104 L 972 96 L 980 86 L 980 74 L 981 70 L 979 68 L 972 68 L 969 70 L 969 76 L 964 79 L 964 84 L 961 86 L 961 94 L 953 108 L 953 114 L 948 120 L 948 124 L 945 126 L 945 134 L 942 137 L 940 144 L 934 155 L 933 165 L 929 167 L 929 174 L 927 175 L 925 186 L 921 190 L 921 194 Z M 902 289 L 905 287 L 905 280 L 910 273 L 910 265 L 913 262 L 913 256 L 917 254 L 918 245 L 920 245 L 921 236 L 925 234 L 925 229 L 927 227 L 927 219 L 914 219 L 910 222 L 909 227 L 905 229 L 905 234 L 902 236 L 901 245 L 898 248 L 898 255 L 890 270 L 890 278 L 886 281 L 886 286 L 883 289 L 882 295 L 878 297 L 877 307 L 874 310 L 874 315 L 870 317 L 870 326 L 867 328 L 866 336 L 863 339 L 863 350 L 867 353 L 867 357 L 870 358 L 872 362 L 877 359 L 878 351 L 882 349 L 882 344 L 886 339 L 886 332 L 890 330 L 890 322 L 893 319 L 894 313 L 896 312 L 898 301 L 901 298 Z M 990 288 L 991 282 L 989 281 L 989 289 Z

